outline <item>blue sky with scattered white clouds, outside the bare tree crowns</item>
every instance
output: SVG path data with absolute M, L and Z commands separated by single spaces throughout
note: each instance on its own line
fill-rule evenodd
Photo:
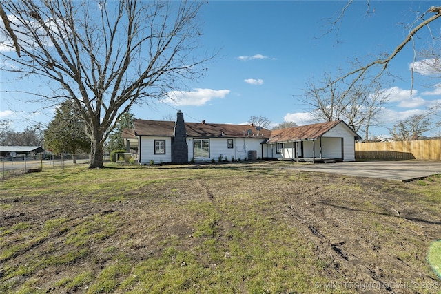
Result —
M 207 64 L 206 76 L 189 83 L 187 92 L 176 93 L 174 101 L 136 106 L 132 112 L 137 118 L 152 120 L 175 116 L 181 109 L 185 120 L 192 122 L 240 124 L 252 115 L 262 115 L 272 125 L 284 120 L 311 123 L 311 109 L 298 100 L 307 83 L 321 79 L 325 72 L 347 72 L 354 59 L 367 62 L 382 52 L 392 52 L 407 35 L 405 25 L 416 19 L 417 12 L 439 4 L 355 1 L 338 28 L 328 32 L 331 20 L 347 1 L 208 1 L 200 15 L 200 42 L 204 50 L 220 50 L 220 54 Z M 431 28 L 439 34 L 440 26 L 441 21 L 435 21 Z M 427 43 L 428 31 L 418 38 L 417 45 Z M 407 46 L 390 64 L 389 70 L 398 77 L 383 85 L 391 101 L 384 109 L 383 127 L 371 129 L 373 134 L 387 135 L 384 127 L 440 101 L 440 81 L 424 74 L 416 74 L 410 95 L 412 61 L 413 49 Z M 22 87 L 23 81 L 6 83 L 3 75 L 0 119 L 12 120 L 12 127 L 19 131 L 23 125 L 48 123 L 53 118 L 53 107 L 24 103 L 26 98 L 6 93 Z M 25 85 L 44 86 L 37 79 Z M 35 110 L 37 114 L 30 114 Z

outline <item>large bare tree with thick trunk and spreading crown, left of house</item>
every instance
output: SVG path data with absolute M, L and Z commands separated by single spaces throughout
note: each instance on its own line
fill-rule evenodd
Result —
M 196 43 L 204 3 L 2 1 L 3 46 L 18 56 L 1 52 L 1 70 L 40 76 L 52 94 L 32 94 L 45 101 L 74 101 L 91 138 L 89 166 L 103 167 L 103 145 L 122 114 L 203 75 L 215 55 Z

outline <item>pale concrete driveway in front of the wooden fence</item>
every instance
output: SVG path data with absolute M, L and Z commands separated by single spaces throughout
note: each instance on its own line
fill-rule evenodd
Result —
M 441 162 L 421 160 L 336 162 L 294 165 L 289 169 L 408 182 L 441 174 Z

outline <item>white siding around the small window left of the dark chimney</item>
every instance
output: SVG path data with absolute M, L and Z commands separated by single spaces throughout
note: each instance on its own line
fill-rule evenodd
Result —
M 154 154 L 154 140 L 165 140 L 165 154 Z M 172 138 L 170 137 L 139 137 L 139 148 L 141 148 L 139 163 L 149 164 L 150 160 L 154 163 L 172 162 Z

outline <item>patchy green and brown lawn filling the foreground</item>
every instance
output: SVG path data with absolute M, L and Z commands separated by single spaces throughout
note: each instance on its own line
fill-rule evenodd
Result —
M 441 291 L 427 261 L 440 175 L 402 183 L 290 165 L 79 165 L 4 180 L 0 292 Z

